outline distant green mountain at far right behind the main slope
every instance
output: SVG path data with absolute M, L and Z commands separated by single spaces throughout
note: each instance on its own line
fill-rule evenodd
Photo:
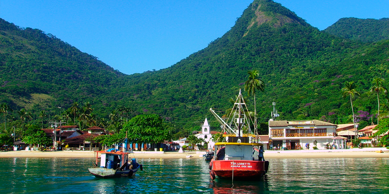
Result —
M 389 18 L 358 19 L 341 18 L 324 32 L 350 40 L 377 42 L 389 39 Z

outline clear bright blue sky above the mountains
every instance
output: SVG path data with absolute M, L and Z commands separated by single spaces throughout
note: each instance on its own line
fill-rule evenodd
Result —
M 253 0 L 0 0 L 0 17 L 40 29 L 125 74 L 176 64 L 230 30 Z M 324 30 L 389 17 L 389 0 L 274 0 Z

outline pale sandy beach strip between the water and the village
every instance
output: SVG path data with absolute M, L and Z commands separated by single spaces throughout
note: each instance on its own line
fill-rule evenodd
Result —
M 383 153 L 376 151 L 382 150 Z M 200 152 L 144 152 L 134 153 L 131 157 L 150 158 L 150 159 L 178 159 L 186 158 L 192 155 L 192 158 L 201 158 Z M 283 158 L 389 158 L 389 150 L 383 148 L 354 148 L 354 149 L 335 149 L 335 150 L 283 150 L 270 151 L 265 150 L 265 159 L 283 159 Z M 93 151 L 7 151 L 0 152 L 2 158 L 94 158 Z

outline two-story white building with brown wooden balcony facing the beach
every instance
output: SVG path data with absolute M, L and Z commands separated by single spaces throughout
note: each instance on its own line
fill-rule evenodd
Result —
M 317 142 L 318 149 L 324 149 L 325 145 L 332 143 L 336 137 L 336 124 L 319 121 L 286 121 L 269 120 L 269 139 L 272 146 L 279 149 L 301 149 L 309 143 L 312 149 Z

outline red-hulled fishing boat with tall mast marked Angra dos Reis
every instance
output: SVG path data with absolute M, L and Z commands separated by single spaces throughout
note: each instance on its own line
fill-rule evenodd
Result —
M 264 147 L 251 130 L 253 124 L 241 91 L 228 115 L 220 117 L 210 109 L 223 129 L 224 141 L 215 143 L 210 162 L 210 176 L 224 179 L 260 179 L 269 166 L 264 158 Z M 246 133 L 244 133 L 246 132 Z

